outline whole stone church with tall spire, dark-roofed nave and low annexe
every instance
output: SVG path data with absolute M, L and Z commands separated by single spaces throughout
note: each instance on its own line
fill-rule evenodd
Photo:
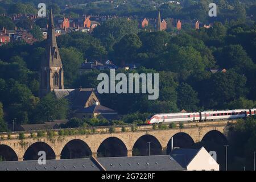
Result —
M 65 89 L 63 64 L 55 36 L 52 10 L 49 15 L 46 54 L 41 62 L 39 96 L 53 92 L 56 98 L 66 98 L 76 118 L 96 117 L 101 115 L 106 119 L 117 119 L 118 113 L 113 109 L 102 106 L 93 88 Z

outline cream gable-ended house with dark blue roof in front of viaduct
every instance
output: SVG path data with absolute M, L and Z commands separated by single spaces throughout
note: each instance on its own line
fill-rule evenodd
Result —
M 219 171 L 219 164 L 204 147 L 199 150 L 190 148 L 175 148 L 171 157 L 187 171 Z

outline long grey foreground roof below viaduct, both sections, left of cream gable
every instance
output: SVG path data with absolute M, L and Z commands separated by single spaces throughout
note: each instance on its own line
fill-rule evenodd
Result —
M 97 158 L 107 171 L 174 171 L 185 170 L 170 155 Z M 37 160 L 0 162 L 0 171 L 100 171 L 93 159 L 47 160 L 39 165 Z

